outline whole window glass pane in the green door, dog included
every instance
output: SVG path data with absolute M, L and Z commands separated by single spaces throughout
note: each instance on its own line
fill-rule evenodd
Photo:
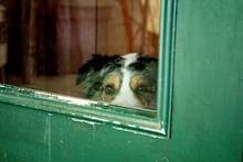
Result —
M 156 109 L 160 0 L 0 0 L 0 82 Z

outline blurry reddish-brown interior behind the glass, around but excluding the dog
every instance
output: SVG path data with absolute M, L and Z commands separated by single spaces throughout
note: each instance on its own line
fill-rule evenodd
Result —
M 78 96 L 93 53 L 158 56 L 160 0 L 0 0 L 0 82 Z

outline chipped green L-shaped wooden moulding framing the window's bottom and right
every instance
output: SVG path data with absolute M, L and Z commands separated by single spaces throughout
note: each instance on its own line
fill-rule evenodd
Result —
M 175 20 L 176 1 L 162 0 L 157 95 L 158 110 L 129 109 L 112 104 L 3 84 L 0 84 L 0 101 L 50 114 L 71 116 L 73 119 L 94 125 L 110 125 L 112 128 L 122 131 L 168 139 L 170 137 L 172 107 Z

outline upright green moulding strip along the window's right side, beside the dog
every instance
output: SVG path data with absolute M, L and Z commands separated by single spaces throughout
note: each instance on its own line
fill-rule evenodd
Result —
M 159 72 L 158 72 L 158 120 L 165 131 L 165 137 L 170 138 L 172 91 L 173 91 L 173 64 L 176 44 L 176 14 L 177 0 L 162 0 L 160 14 L 160 44 L 159 44 Z

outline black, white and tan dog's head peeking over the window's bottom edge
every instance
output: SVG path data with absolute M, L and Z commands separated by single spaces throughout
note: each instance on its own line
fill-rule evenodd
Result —
M 84 98 L 155 108 L 157 58 L 138 53 L 94 55 L 80 68 L 76 84 Z

